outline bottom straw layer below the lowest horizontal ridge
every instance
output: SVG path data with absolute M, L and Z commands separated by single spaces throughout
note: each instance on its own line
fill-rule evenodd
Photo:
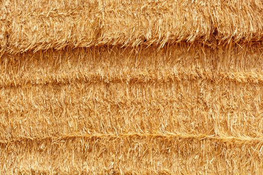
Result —
M 253 146 L 232 145 L 213 137 L 200 140 L 203 136 L 167 135 L 113 133 L 25 140 L 9 144 L 9 148 L 2 146 L 2 157 L 9 159 L 2 159 L 1 165 L 7 172 L 26 174 L 261 172 L 262 142 Z

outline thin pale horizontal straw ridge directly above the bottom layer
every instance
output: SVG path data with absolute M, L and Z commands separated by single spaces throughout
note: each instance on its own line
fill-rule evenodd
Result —
M 93 134 L 64 134 L 58 136 L 44 136 L 44 137 L 30 137 L 30 136 L 19 136 L 17 138 L 0 138 L 0 143 L 8 144 L 14 142 L 23 141 L 41 141 L 41 140 L 66 140 L 66 139 L 91 139 L 91 138 L 179 138 L 179 139 L 195 139 L 201 140 L 213 140 L 215 142 L 229 142 L 229 143 L 240 143 L 240 144 L 253 144 L 253 143 L 263 143 L 263 137 L 236 137 L 236 136 L 226 136 L 226 135 L 206 135 L 206 134 L 188 134 L 188 133 L 138 133 L 138 132 L 128 132 L 128 133 L 93 133 Z

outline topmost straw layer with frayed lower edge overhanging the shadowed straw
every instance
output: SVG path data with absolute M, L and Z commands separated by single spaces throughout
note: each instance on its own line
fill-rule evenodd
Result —
M 4 0 L 2 49 L 261 40 L 258 0 Z

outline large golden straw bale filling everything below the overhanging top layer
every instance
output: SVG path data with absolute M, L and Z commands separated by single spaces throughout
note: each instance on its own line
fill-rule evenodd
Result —
M 262 44 L 225 48 L 179 43 L 4 54 L 2 169 L 260 172 Z

